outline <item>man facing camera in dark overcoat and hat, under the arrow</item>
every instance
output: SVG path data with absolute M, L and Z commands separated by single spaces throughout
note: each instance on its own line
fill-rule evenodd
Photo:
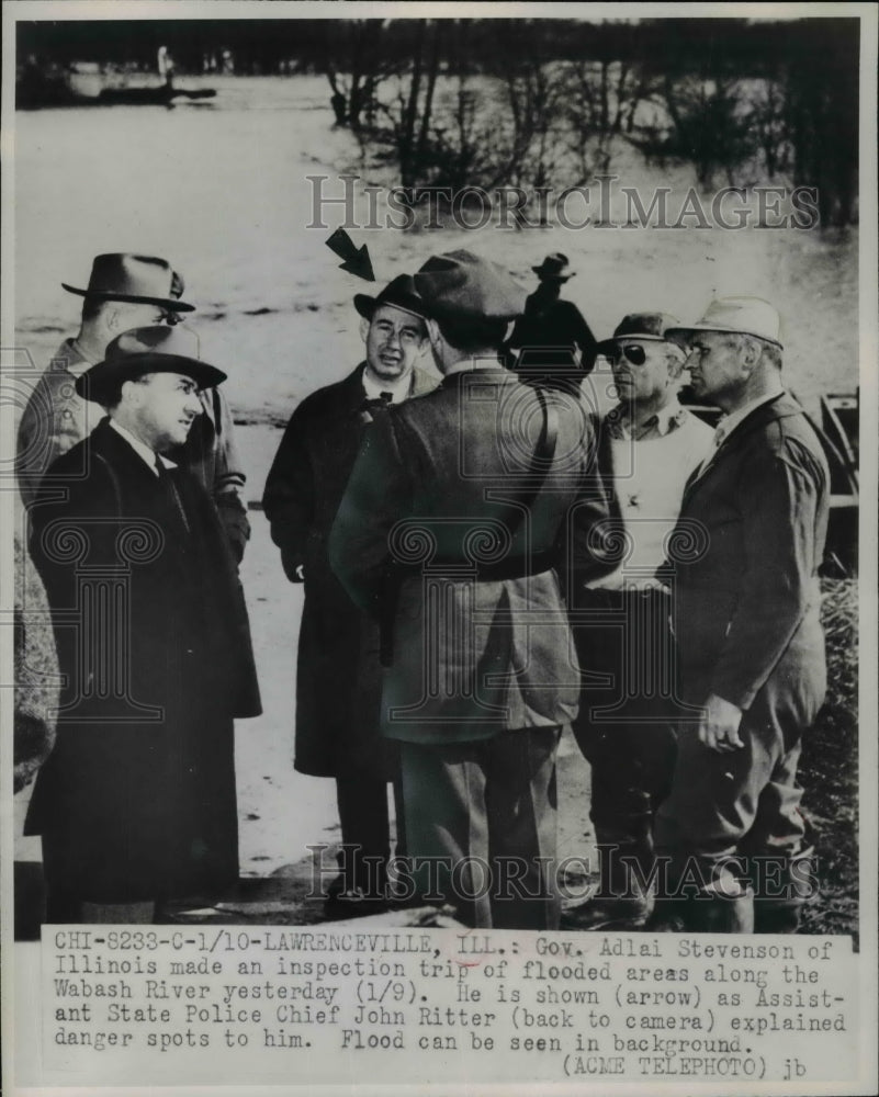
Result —
M 357 294 L 365 360 L 306 397 L 288 425 L 263 506 L 291 583 L 304 583 L 296 674 L 295 768 L 336 780 L 341 874 L 329 906 L 374 909 L 390 855 L 387 781 L 397 802 L 398 760 L 379 734 L 379 629 L 350 600 L 327 559 L 327 540 L 364 431 L 392 405 L 436 381 L 416 363 L 427 351 L 424 304 L 408 274 L 376 296 Z

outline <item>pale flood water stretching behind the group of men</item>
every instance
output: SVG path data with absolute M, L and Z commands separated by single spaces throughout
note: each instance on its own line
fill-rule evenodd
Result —
M 210 102 L 74 108 L 15 115 L 15 326 L 19 348 L 42 367 L 75 329 L 84 285 L 102 251 L 167 257 L 199 306 L 202 353 L 229 374 L 236 415 L 282 422 L 308 392 L 345 375 L 362 351 L 352 295 L 364 289 L 338 269 L 326 229 L 312 218 L 308 176 L 357 171 L 351 133 L 334 126 L 324 77 L 181 78 L 214 87 Z M 686 183 L 686 171 L 651 174 L 631 157 L 615 163 L 647 190 Z M 790 230 L 594 228 L 478 233 L 352 230 L 376 279 L 414 270 L 432 251 L 480 250 L 533 286 L 530 268 L 552 250 L 578 276 L 566 286 L 600 337 L 626 312 L 658 308 L 697 318 L 714 292 L 774 299 L 786 319 L 788 372 L 807 400 L 857 377 L 856 249 L 852 239 Z

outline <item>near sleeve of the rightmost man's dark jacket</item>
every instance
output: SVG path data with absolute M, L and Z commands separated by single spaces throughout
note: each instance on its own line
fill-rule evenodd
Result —
M 814 598 L 824 473 L 796 440 L 745 463 L 739 479 L 745 566 L 711 690 L 747 709 Z M 723 536 L 723 528 L 714 531 Z

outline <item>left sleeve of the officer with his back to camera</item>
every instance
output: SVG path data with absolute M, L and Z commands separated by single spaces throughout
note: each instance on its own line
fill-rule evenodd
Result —
M 329 536 L 329 564 L 361 610 L 381 615 L 388 581 L 390 538 L 410 514 L 413 489 L 396 416 L 380 416 L 365 431 Z

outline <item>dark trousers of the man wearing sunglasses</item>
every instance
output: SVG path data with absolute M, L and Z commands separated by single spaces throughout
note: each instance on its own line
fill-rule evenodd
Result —
M 589 815 L 599 842 L 650 857 L 686 712 L 675 695 L 668 596 L 586 591 L 575 620 L 584 685 L 573 731 L 591 767 Z

